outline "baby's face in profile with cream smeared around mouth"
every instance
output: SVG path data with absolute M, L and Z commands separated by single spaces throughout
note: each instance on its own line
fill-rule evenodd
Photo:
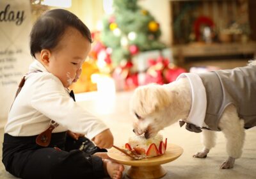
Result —
M 81 66 L 88 56 L 91 43 L 77 29 L 68 27 L 63 37 L 51 51 L 49 72 L 60 79 L 68 88 L 81 75 Z

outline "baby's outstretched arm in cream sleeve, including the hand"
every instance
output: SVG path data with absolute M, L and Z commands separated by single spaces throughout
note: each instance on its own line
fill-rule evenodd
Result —
M 107 130 L 108 126 L 74 102 L 57 77 L 49 73 L 38 73 L 27 82 L 31 83 L 32 88 L 29 91 L 31 93 L 31 107 L 43 114 L 45 125 L 49 124 L 49 119 L 54 120 L 60 125 L 56 130 L 64 131 L 67 129 L 76 134 L 86 134 L 88 139 L 95 138 L 96 143 L 105 146 L 105 144 L 100 143 L 101 138 L 104 138 L 100 137 L 100 133 L 105 133 L 104 130 Z M 44 131 L 45 126 L 42 126 L 42 131 Z M 111 132 L 106 133 L 111 134 Z M 95 137 L 98 135 L 99 139 Z M 113 143 L 112 134 L 106 135 L 110 136 L 110 143 Z M 72 137 L 76 138 L 77 135 Z M 109 139 L 106 140 L 106 143 L 109 146 Z

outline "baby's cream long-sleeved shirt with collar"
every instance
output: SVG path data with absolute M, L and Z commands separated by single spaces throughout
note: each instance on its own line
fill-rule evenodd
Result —
M 42 72 L 33 72 L 40 70 Z M 35 136 L 49 127 L 51 120 L 59 126 L 52 132 L 71 130 L 89 139 L 108 127 L 88 113 L 68 93 L 60 79 L 47 72 L 37 60 L 29 66 L 26 82 L 12 105 L 4 132 L 11 136 Z

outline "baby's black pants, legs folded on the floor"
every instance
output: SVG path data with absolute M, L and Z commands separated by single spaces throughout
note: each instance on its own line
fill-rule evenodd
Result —
M 92 155 L 106 152 L 86 137 L 77 141 L 66 132 L 53 133 L 49 147 L 38 146 L 36 136 L 13 137 L 4 134 L 3 164 L 19 178 L 104 178 L 103 162 Z M 83 145 L 82 150 L 81 144 Z

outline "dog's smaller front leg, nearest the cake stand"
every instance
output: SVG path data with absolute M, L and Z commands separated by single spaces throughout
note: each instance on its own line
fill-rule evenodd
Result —
M 205 158 L 210 152 L 211 148 L 216 144 L 216 134 L 213 130 L 203 130 L 202 132 L 202 143 L 204 144 L 204 149 L 201 152 L 197 152 L 193 157 L 195 158 Z

